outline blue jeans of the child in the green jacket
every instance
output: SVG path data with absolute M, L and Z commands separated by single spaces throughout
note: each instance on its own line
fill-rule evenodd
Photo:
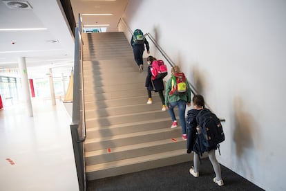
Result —
M 177 120 L 175 118 L 175 112 L 174 112 L 174 107 L 178 105 L 178 108 L 179 108 L 179 118 L 180 118 L 180 123 L 181 123 L 181 126 L 182 126 L 182 134 L 187 134 L 187 129 L 186 129 L 186 118 L 185 118 L 185 112 L 186 112 L 186 105 L 187 105 L 187 102 L 184 101 L 184 100 L 178 100 L 176 102 L 170 102 L 169 104 L 169 113 L 170 113 L 170 116 L 172 118 L 172 120 Z

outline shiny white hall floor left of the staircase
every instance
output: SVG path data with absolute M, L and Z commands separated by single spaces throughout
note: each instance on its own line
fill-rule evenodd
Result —
M 0 190 L 79 190 L 66 107 L 35 99 L 32 109 L 0 110 Z

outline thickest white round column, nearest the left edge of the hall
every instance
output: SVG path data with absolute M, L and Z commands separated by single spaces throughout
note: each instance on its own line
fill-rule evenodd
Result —
M 26 66 L 26 57 L 19 57 L 19 72 L 21 76 L 21 85 L 22 85 L 22 95 L 24 102 L 26 104 L 26 109 L 28 110 L 28 116 L 32 117 L 32 102 L 30 97 L 30 89 L 29 89 L 29 80 L 28 80 L 28 73 L 27 73 L 27 66 Z

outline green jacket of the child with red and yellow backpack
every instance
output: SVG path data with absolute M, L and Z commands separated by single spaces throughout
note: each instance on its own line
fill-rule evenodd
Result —
M 172 78 L 170 78 L 166 82 L 166 91 L 165 91 L 165 105 L 168 107 L 170 102 L 177 102 L 178 100 L 184 100 L 186 102 L 191 102 L 191 88 L 189 86 L 189 82 L 186 78 L 186 85 L 187 85 L 187 93 L 182 96 L 177 96 L 175 94 L 169 95 L 172 89 Z

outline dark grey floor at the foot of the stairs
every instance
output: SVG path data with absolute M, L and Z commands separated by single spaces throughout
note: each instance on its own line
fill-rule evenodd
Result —
M 263 190 L 221 165 L 225 185 L 213 183 L 213 169 L 209 158 L 202 158 L 200 177 L 189 174 L 192 161 L 153 170 L 88 181 L 87 190 Z

